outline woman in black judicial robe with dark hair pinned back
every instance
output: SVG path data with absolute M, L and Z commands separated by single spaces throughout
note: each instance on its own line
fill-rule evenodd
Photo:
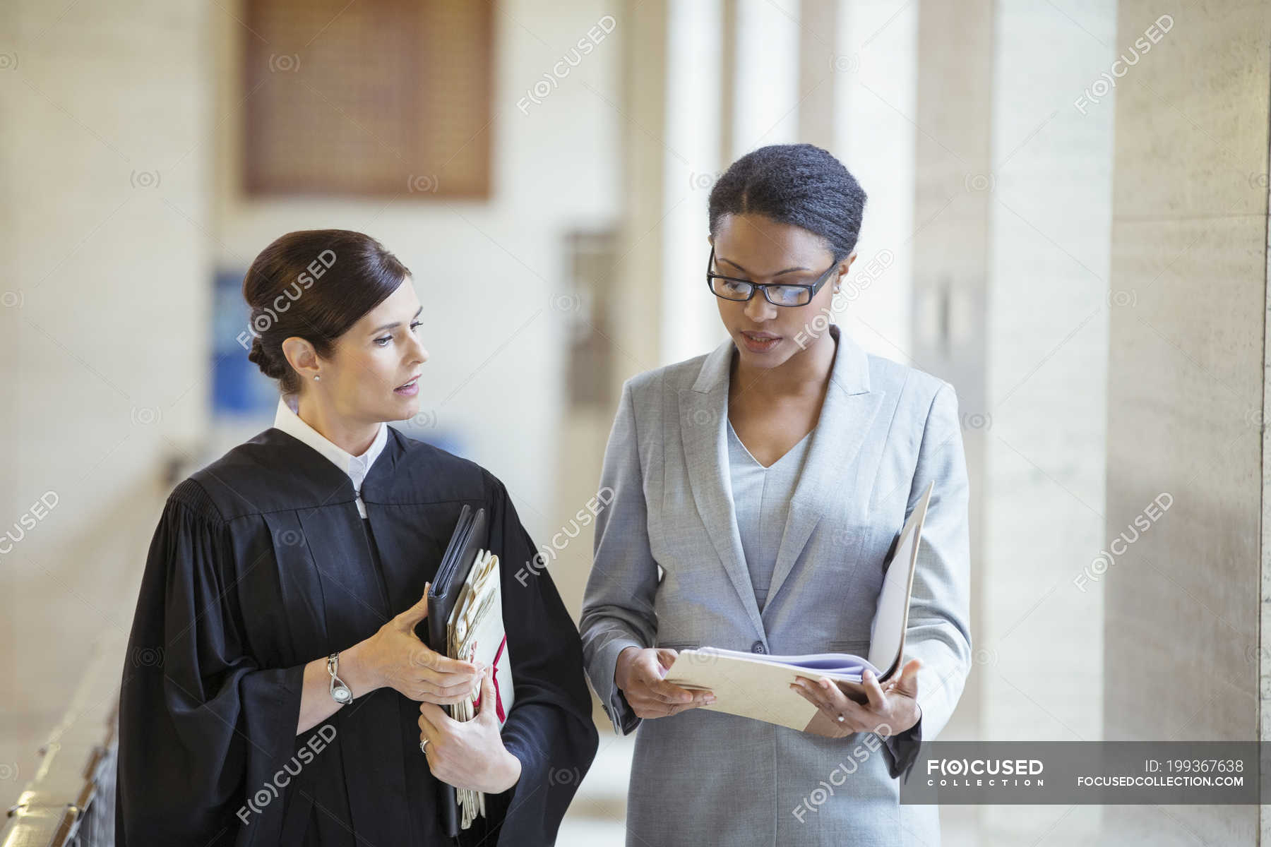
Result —
M 578 631 L 526 568 L 535 545 L 500 480 L 383 423 L 418 411 L 409 272 L 369 236 L 292 232 L 244 296 L 250 358 L 309 442 L 266 429 L 168 498 L 123 668 L 116 843 L 449 844 L 438 778 L 487 791 L 460 843 L 553 843 L 597 744 Z M 445 715 L 482 669 L 417 635 L 465 504 L 486 508 L 500 557 L 515 681 L 501 730 Z

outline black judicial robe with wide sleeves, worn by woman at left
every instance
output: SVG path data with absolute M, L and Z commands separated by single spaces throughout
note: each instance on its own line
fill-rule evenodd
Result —
M 502 738 L 522 771 L 460 843 L 554 841 L 597 733 L 578 631 L 548 571 L 526 568 L 535 546 L 506 489 L 390 427 L 362 502 L 365 521 L 348 475 L 276 428 L 172 491 L 123 667 L 119 847 L 452 843 L 418 702 L 379 688 L 296 723 L 304 665 L 423 596 L 465 503 L 488 510 L 500 556 L 516 686 Z

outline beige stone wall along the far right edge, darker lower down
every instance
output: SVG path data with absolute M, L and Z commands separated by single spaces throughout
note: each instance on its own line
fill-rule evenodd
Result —
M 1162 14 L 1126 0 L 1118 52 Z M 1106 540 L 1108 739 L 1258 733 L 1271 9 L 1182 3 L 1116 88 Z M 1173 497 L 1155 517 L 1162 493 Z M 1149 510 L 1150 509 L 1150 510 Z M 1261 657 L 1261 663 L 1258 658 Z M 1263 690 L 1266 686 L 1263 683 Z M 1135 830 L 1152 809 L 1108 810 Z M 1171 806 L 1169 843 L 1257 843 L 1258 809 Z M 1167 843 L 1158 841 L 1157 843 Z

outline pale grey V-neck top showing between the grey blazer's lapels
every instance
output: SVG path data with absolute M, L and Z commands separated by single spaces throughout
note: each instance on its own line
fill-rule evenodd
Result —
M 785 451 L 785 455 L 764 467 L 741 443 L 732 422 L 728 427 L 728 477 L 732 484 L 732 503 L 741 532 L 741 549 L 750 570 L 750 584 L 755 589 L 755 602 L 760 611 L 768 602 L 768 587 L 777 568 L 777 551 L 782 546 L 785 517 L 791 510 L 791 498 L 803 471 L 812 433 Z M 812 432 L 816 432 L 815 429 Z

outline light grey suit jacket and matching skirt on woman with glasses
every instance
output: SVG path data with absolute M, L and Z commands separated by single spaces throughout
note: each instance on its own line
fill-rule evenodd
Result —
M 601 472 L 614 499 L 597 516 L 580 629 L 587 677 L 614 729 L 638 728 L 628 844 L 939 843 L 937 806 L 900 805 L 896 775 L 920 739 L 944 728 L 971 667 L 957 395 L 830 331 L 830 386 L 763 613 L 730 493 L 732 340 L 623 386 Z M 932 480 L 905 635 L 905 659 L 923 660 L 914 730 L 882 742 L 707 709 L 636 717 L 614 683 L 628 646 L 864 655 L 883 561 Z

